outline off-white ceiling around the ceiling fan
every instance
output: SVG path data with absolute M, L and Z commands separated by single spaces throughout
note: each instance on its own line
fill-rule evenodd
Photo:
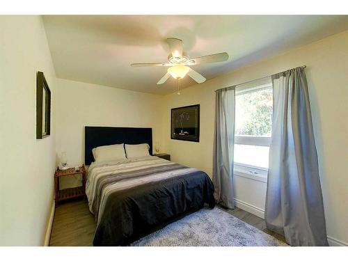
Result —
M 195 65 L 207 79 L 348 29 L 348 16 L 330 15 L 45 15 L 56 76 L 145 93 L 176 89 L 167 68 L 131 63 L 166 62 L 166 38 L 184 41 L 191 58 L 228 52 L 223 63 Z M 189 77 L 182 88 L 195 84 Z

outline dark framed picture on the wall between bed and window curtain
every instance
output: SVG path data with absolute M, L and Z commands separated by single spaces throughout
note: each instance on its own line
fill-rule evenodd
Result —
M 171 139 L 199 142 L 199 104 L 171 109 Z

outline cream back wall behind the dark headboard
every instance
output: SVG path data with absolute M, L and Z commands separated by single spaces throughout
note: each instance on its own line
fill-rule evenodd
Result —
M 152 140 L 162 141 L 163 96 L 56 79 L 56 156 L 66 151 L 68 164 L 84 163 L 84 127 L 152 127 Z M 62 187 L 79 184 L 77 177 Z

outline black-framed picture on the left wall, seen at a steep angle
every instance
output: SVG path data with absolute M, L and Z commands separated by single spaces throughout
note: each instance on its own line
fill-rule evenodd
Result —
M 51 90 L 43 72 L 36 73 L 36 139 L 51 134 Z

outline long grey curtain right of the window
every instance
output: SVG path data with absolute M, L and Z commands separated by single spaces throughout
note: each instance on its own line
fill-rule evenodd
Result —
M 274 112 L 265 220 L 292 246 L 327 246 L 306 74 L 272 75 Z

